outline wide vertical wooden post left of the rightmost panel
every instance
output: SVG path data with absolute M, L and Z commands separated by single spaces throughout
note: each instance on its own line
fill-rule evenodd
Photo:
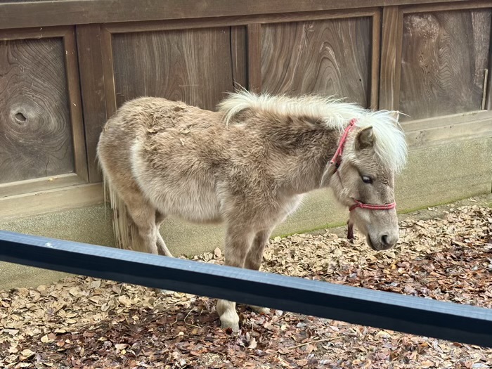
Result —
M 385 6 L 382 13 L 382 41 L 381 41 L 381 66 L 380 66 L 380 109 L 398 109 L 398 88 L 396 75 L 398 75 L 397 56 L 401 46 L 399 29 L 401 15 L 398 6 Z

